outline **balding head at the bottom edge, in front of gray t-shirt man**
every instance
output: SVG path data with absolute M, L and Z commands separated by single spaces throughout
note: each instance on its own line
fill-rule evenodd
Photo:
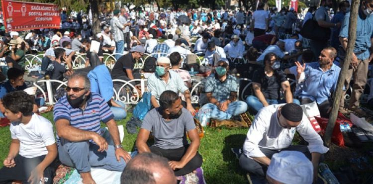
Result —
M 121 184 L 176 184 L 167 159 L 154 153 L 142 153 L 128 162 Z

